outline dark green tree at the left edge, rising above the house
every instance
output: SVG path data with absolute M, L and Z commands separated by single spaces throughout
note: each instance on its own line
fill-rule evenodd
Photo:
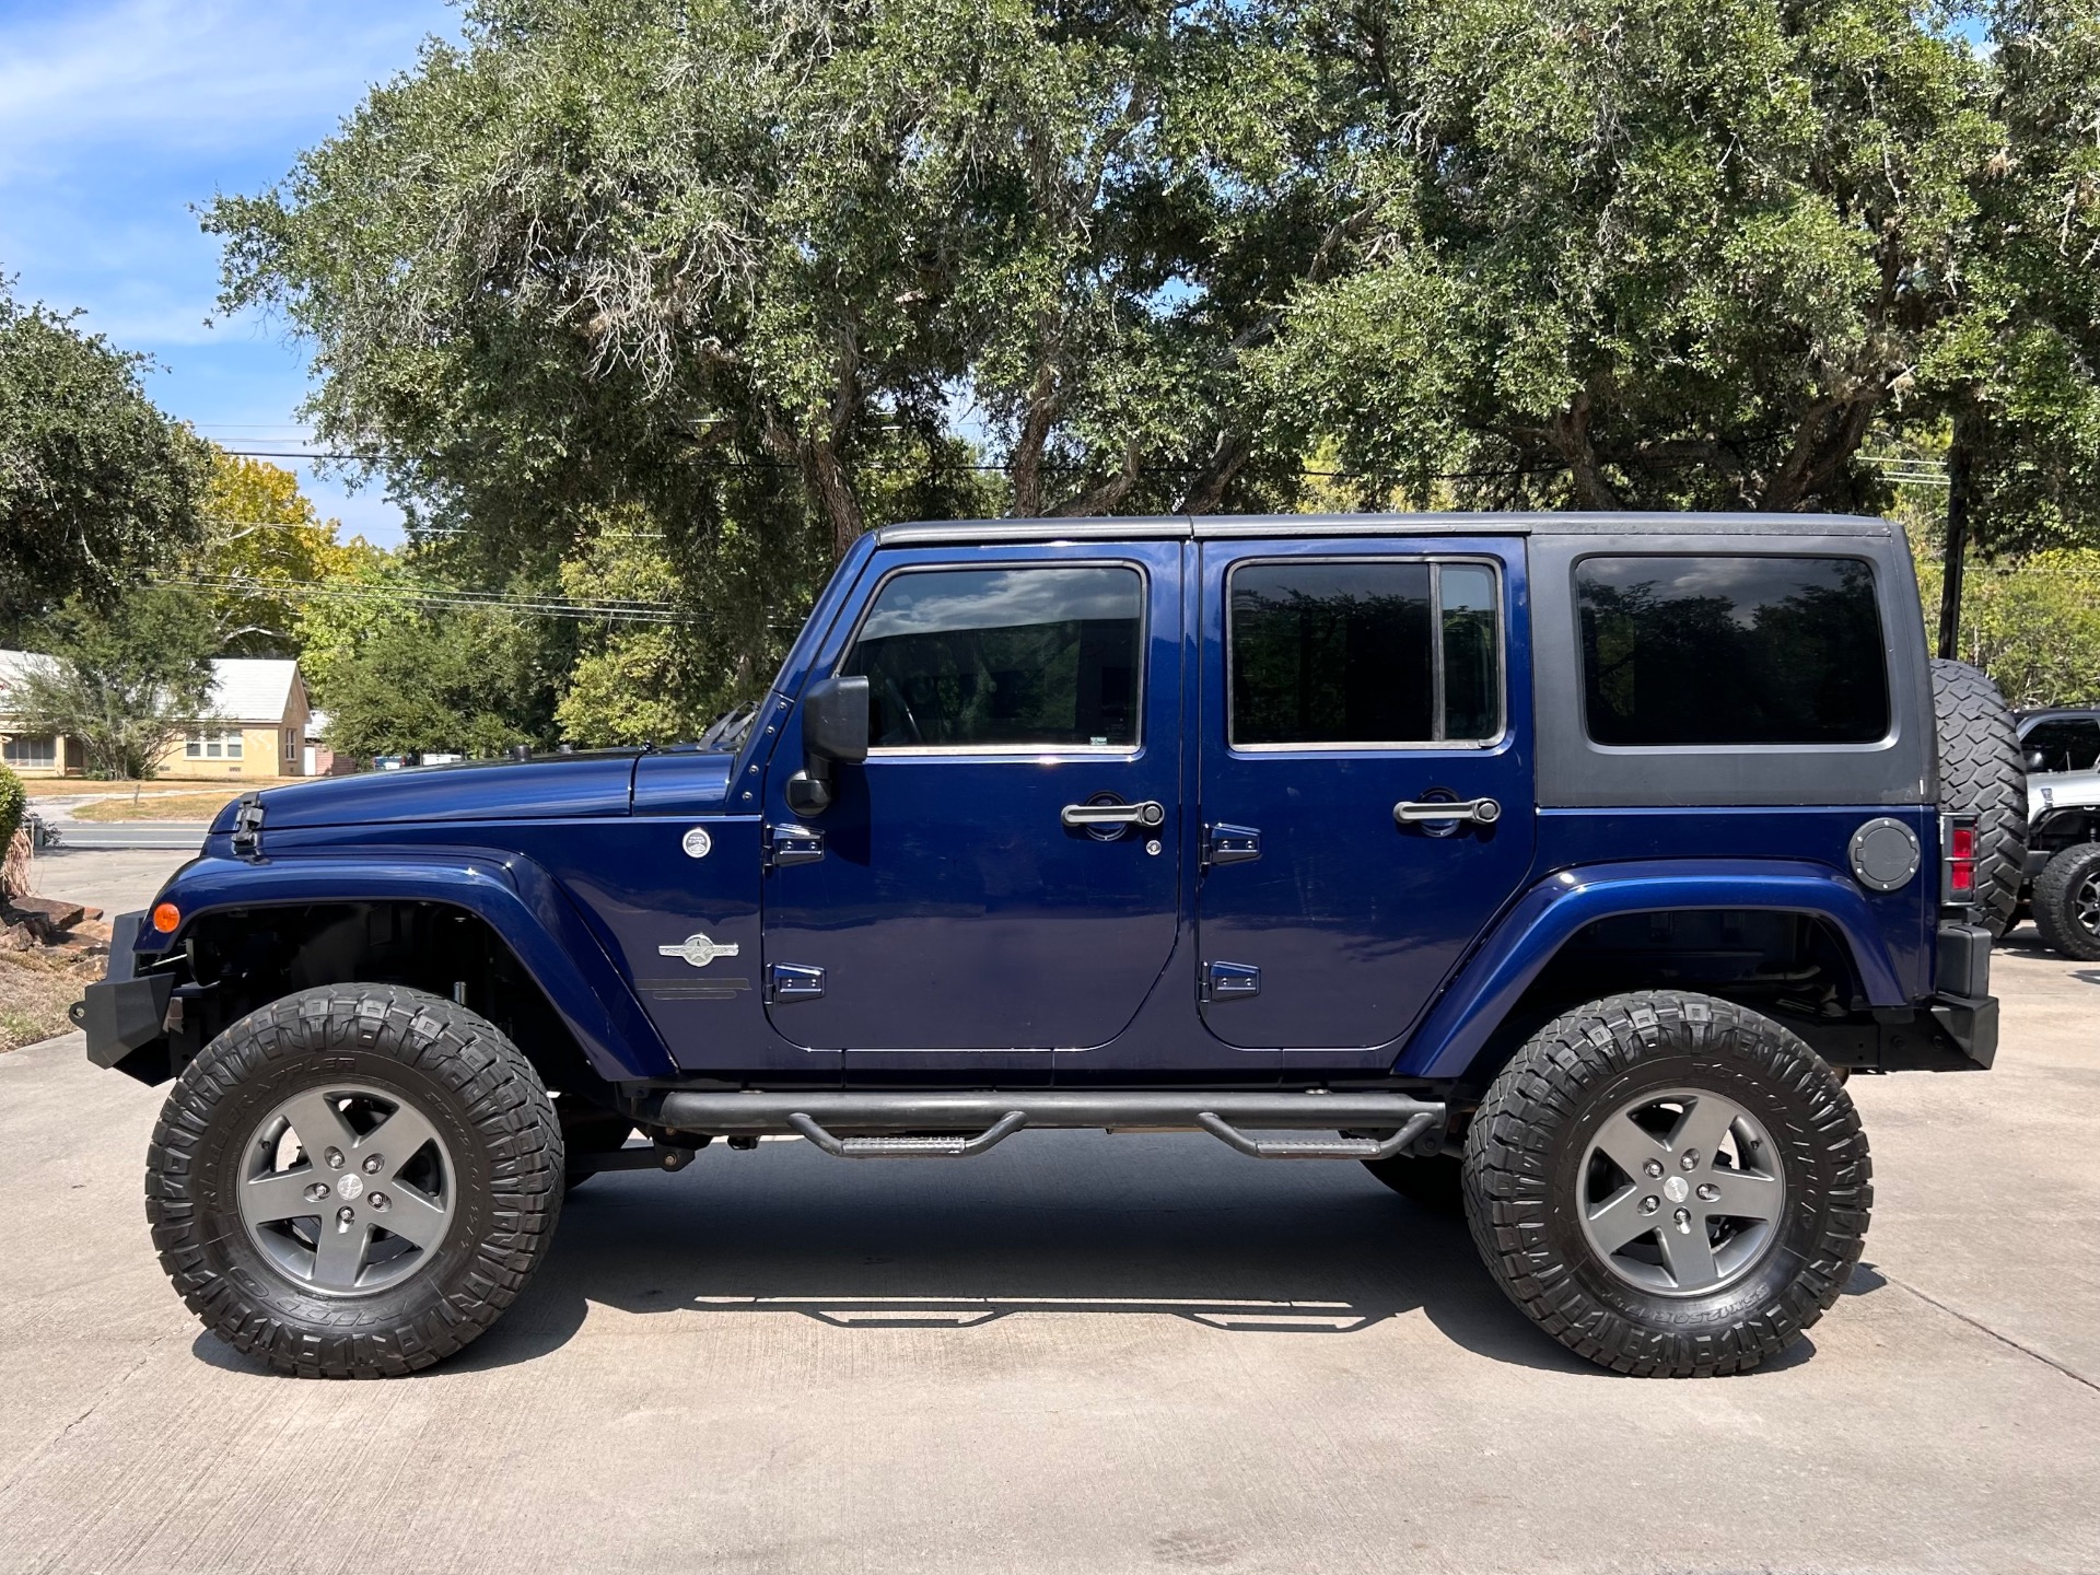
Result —
M 197 540 L 206 445 L 145 397 L 143 363 L 0 279 L 0 636 Z

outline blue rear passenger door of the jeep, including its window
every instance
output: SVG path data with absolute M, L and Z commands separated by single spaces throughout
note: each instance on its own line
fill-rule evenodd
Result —
M 1514 538 L 1203 546 L 1197 993 L 1224 1044 L 1384 1065 L 1522 884 L 1522 573 Z

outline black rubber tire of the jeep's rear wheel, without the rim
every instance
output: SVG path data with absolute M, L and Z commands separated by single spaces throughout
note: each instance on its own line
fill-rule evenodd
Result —
M 1697 1298 L 1628 1285 L 1579 1218 L 1590 1138 L 1625 1100 L 1672 1088 L 1751 1111 L 1785 1178 L 1772 1245 Z M 1611 995 L 1548 1023 L 1495 1077 L 1466 1134 L 1466 1218 L 1502 1289 L 1575 1354 L 1642 1378 L 1732 1373 L 1838 1300 L 1867 1235 L 1871 1170 L 1852 1100 L 1793 1033 L 1707 995 Z

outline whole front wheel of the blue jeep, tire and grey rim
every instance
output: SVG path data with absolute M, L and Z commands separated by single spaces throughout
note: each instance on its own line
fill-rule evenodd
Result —
M 147 1220 L 189 1310 L 304 1378 L 460 1350 L 517 1300 L 561 1214 L 563 1144 L 487 1018 L 399 985 L 250 1012 L 176 1079 Z

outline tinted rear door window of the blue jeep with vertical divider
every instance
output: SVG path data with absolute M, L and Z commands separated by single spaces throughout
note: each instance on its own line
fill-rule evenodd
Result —
M 1485 563 L 1239 565 L 1226 588 L 1233 746 L 1499 737 L 1499 607 Z

